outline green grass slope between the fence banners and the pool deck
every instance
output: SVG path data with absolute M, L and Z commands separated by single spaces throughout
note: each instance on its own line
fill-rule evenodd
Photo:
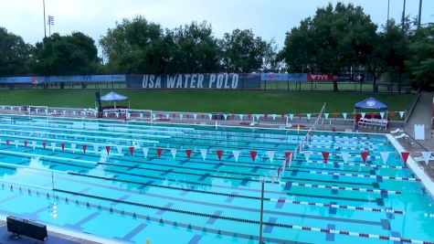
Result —
M 2 104 L 93 108 L 97 90 L 1 90 Z M 109 90 L 101 90 L 105 94 Z M 310 92 L 278 90 L 115 90 L 131 98 L 132 109 L 155 111 L 223 111 L 243 113 L 315 112 L 323 102 L 326 111 L 353 111 L 357 101 L 374 96 L 389 111 L 404 111 L 413 94 L 368 92 Z M 103 103 L 104 104 L 104 103 Z M 127 105 L 122 101 L 120 105 Z

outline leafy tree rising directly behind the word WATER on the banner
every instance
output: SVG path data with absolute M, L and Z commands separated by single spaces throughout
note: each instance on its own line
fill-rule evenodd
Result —
M 184 27 L 166 31 L 170 43 L 170 61 L 166 72 L 216 72 L 218 71 L 217 39 L 206 22 L 192 22 Z

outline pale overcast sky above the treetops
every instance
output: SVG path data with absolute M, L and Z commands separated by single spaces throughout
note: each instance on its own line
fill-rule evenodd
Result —
M 0 26 L 34 44 L 44 37 L 42 0 L 0 0 Z M 46 15 L 54 16 L 51 32 L 81 31 L 97 43 L 122 18 L 142 15 L 164 28 L 206 20 L 216 37 L 234 28 L 251 28 L 255 35 L 274 37 L 280 48 L 285 33 L 313 16 L 316 8 L 336 0 L 45 0 Z M 386 23 L 387 0 L 341 1 L 362 5 L 381 26 Z M 406 13 L 418 15 L 419 0 L 407 0 Z M 423 0 L 422 23 L 434 22 L 434 1 Z M 403 0 L 390 0 L 390 17 L 400 20 Z M 48 33 L 48 29 L 47 29 Z

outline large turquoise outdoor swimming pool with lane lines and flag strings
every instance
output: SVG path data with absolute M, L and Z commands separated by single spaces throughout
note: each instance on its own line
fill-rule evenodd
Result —
M 127 243 L 257 243 L 265 180 L 267 243 L 434 241 L 433 199 L 384 135 L 316 132 L 272 182 L 303 132 L 0 118 L 3 215 Z

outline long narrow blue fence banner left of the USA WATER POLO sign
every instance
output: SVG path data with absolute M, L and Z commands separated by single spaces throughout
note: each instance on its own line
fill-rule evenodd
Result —
M 90 76 L 26 76 L 0 78 L 0 83 L 49 83 L 49 82 L 125 82 L 125 75 L 90 75 Z

